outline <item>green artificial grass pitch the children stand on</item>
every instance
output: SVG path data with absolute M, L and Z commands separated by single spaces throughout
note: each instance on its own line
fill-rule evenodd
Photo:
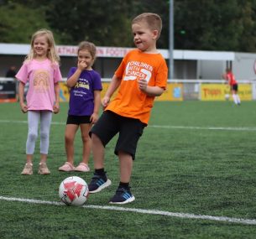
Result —
M 231 101 L 155 102 L 133 164 L 136 200 L 116 207 L 107 204 L 119 182 L 115 140 L 106 148 L 112 186 L 90 195 L 85 207 L 55 205 L 63 179 L 77 175 L 89 182 L 92 175 L 58 171 L 65 162 L 67 109 L 61 103 L 53 117 L 51 174 L 37 174 L 38 140 L 34 174 L 24 176 L 27 115 L 18 103 L 0 104 L 0 238 L 255 238 L 255 101 L 241 107 Z M 75 147 L 78 164 L 80 132 Z

